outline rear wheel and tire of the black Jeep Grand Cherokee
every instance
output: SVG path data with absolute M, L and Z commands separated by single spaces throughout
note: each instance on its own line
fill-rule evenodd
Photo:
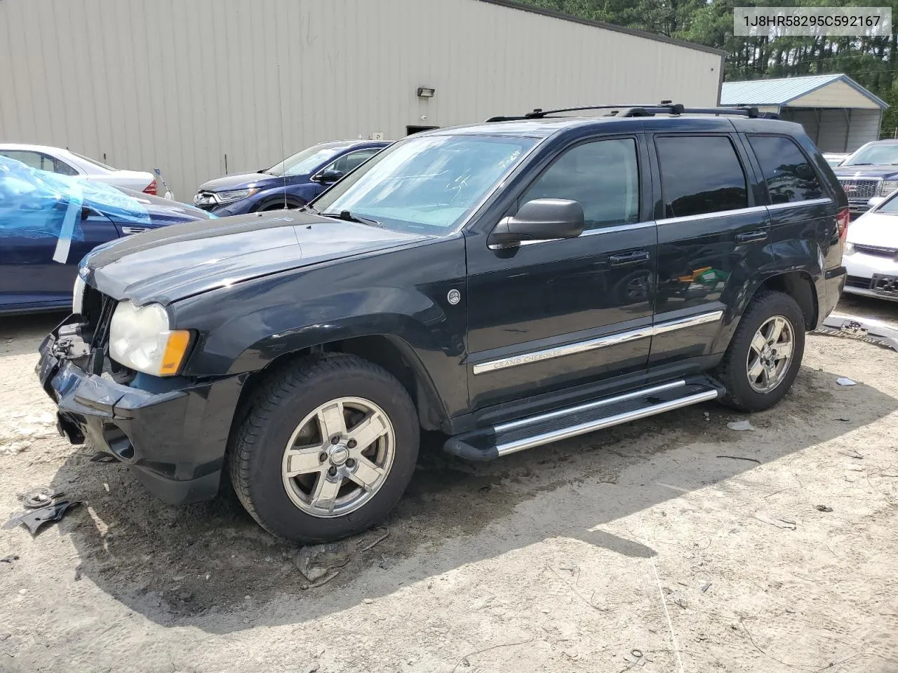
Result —
M 805 316 L 788 294 L 764 293 L 745 310 L 718 365 L 726 387 L 721 402 L 740 411 L 762 411 L 791 388 L 805 353 Z

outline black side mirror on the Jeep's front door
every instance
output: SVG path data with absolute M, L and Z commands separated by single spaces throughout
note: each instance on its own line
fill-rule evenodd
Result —
M 489 234 L 489 245 L 522 240 L 576 239 L 585 227 L 583 206 L 564 198 L 535 198 L 511 217 L 503 218 Z

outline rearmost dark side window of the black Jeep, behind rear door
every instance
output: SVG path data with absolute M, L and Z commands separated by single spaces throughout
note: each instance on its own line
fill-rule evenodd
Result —
M 823 197 L 814 169 L 791 138 L 749 135 L 748 142 L 761 164 L 770 203 L 788 204 Z

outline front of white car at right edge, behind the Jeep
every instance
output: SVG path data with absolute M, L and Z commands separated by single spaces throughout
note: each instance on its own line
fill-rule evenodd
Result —
M 870 205 L 848 228 L 845 292 L 898 302 L 898 192 Z

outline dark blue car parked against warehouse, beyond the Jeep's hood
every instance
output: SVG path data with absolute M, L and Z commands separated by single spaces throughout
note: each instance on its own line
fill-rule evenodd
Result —
M 288 156 L 256 173 L 226 175 L 199 186 L 193 205 L 216 215 L 240 215 L 306 205 L 389 143 L 335 140 Z

